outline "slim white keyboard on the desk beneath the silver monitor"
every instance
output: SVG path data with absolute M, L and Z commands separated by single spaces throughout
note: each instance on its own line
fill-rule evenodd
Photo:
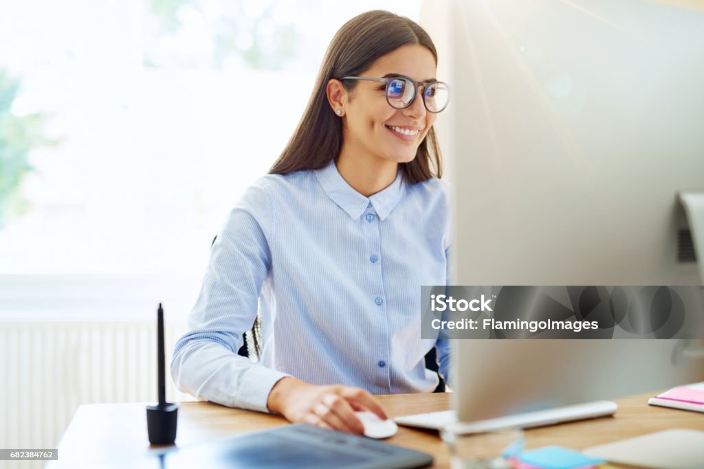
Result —
M 557 423 L 569 422 L 571 420 L 584 420 L 586 418 L 596 418 L 613 415 L 618 406 L 612 401 L 594 401 L 586 404 L 574 406 L 555 407 L 544 411 L 534 411 L 519 413 L 513 416 L 489 418 L 487 420 L 477 420 L 475 422 L 463 423 L 460 431 L 488 432 L 499 428 L 518 427 L 533 428 L 545 425 L 555 425 Z M 394 418 L 398 425 L 408 427 L 430 428 L 440 430 L 446 425 L 457 422 L 455 411 L 439 411 L 429 413 L 417 413 L 412 416 Z

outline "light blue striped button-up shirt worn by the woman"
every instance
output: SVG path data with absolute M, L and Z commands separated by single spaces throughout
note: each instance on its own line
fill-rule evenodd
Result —
M 420 338 L 420 286 L 448 283 L 448 185 L 396 180 L 365 197 L 334 162 L 268 174 L 218 234 L 201 293 L 171 363 L 177 387 L 226 406 L 268 411 L 287 375 L 372 394 L 432 392 L 425 368 L 446 340 Z M 237 350 L 260 309 L 255 364 Z

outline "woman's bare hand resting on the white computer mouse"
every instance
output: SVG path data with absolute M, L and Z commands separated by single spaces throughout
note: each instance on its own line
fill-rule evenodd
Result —
M 310 385 L 290 377 L 272 387 L 267 406 L 294 423 L 358 435 L 364 432 L 364 426 L 355 411 L 370 411 L 386 420 L 379 401 L 359 387 Z

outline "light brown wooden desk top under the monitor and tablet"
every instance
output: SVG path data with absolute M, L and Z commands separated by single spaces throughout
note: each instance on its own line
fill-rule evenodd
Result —
M 616 399 L 613 417 L 536 428 L 526 431 L 527 448 L 558 444 L 583 449 L 668 428 L 704 430 L 697 412 L 648 406 L 654 393 Z M 441 411 L 449 408 L 450 394 L 396 394 L 379 396 L 389 416 Z M 79 468 L 96 463 L 129 461 L 151 451 L 146 436 L 145 404 L 90 404 L 80 406 L 58 444 L 58 461 L 47 468 Z M 280 416 L 231 409 L 210 402 L 185 402 L 179 409 L 176 444 L 187 446 L 240 433 L 286 424 Z M 435 456 L 434 468 L 448 468 L 448 449 L 437 432 L 399 427 L 385 440 Z M 125 464 L 129 467 L 129 464 Z

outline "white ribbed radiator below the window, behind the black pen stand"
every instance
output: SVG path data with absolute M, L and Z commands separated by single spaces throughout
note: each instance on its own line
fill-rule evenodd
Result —
M 165 324 L 169 401 L 194 399 L 175 389 L 168 372 L 184 330 L 184 322 Z M 0 448 L 56 448 L 80 404 L 156 399 L 153 323 L 0 322 Z M 0 461 L 7 469 L 43 466 Z

